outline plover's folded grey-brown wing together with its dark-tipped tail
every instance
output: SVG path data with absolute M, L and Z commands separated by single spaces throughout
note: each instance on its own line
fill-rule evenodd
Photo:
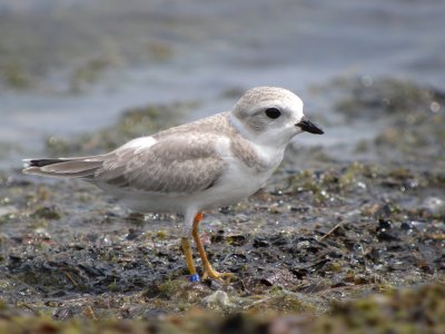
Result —
M 100 156 L 23 160 L 23 173 L 81 178 L 99 187 L 192 194 L 212 187 L 226 169 L 211 135 L 166 136 L 159 141 L 134 143 Z

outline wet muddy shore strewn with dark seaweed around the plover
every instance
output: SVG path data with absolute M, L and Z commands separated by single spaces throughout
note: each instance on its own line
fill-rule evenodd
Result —
M 377 129 L 357 144 L 367 158 L 290 147 L 265 189 L 206 212 L 205 247 L 230 281 L 188 282 L 180 217 L 131 215 L 78 180 L 1 171 L 0 328 L 441 333 L 444 94 L 385 78 L 330 88 L 345 121 Z M 103 151 L 179 122 L 177 109 L 132 110 L 73 144 L 49 140 L 48 150 Z

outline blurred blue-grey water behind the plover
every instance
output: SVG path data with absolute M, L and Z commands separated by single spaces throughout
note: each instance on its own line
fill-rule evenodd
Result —
M 443 88 L 444 17 L 441 0 L 0 0 L 0 166 L 130 107 L 194 101 L 191 120 L 266 85 L 303 98 L 322 145 L 352 145 L 374 129 L 343 121 L 329 88 L 344 77 Z

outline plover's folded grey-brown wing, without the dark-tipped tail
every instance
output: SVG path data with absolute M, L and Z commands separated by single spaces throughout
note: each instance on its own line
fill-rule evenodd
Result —
M 162 194 L 192 194 L 217 184 L 226 163 L 212 136 L 167 136 L 144 147 L 111 153 L 95 179 L 108 185 Z

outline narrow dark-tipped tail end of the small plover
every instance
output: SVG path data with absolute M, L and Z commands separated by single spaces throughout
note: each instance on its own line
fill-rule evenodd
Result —
M 58 158 L 58 159 L 24 159 L 23 174 L 88 178 L 95 175 L 103 160 L 99 157 Z

